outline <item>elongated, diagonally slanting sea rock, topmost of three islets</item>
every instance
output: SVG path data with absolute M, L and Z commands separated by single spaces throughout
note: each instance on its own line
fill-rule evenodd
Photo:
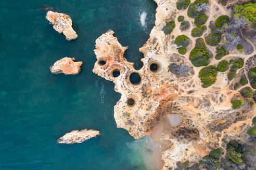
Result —
M 45 18 L 49 21 L 49 24 L 53 25 L 54 30 L 60 34 L 63 33 L 67 40 L 70 41 L 78 38 L 78 35 L 72 28 L 72 20 L 69 15 L 48 11 Z

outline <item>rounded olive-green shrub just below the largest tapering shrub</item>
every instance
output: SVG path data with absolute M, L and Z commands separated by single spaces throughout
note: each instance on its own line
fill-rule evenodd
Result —
M 198 77 L 201 79 L 201 82 L 203 83 L 204 88 L 214 84 L 217 79 L 216 76 L 217 68 L 212 65 L 202 68 L 198 75 Z

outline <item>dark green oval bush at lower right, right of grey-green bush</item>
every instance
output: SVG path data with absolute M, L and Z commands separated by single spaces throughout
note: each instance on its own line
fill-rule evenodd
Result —
M 227 155 L 230 160 L 234 163 L 240 164 L 242 163 L 242 152 L 244 152 L 244 147 L 238 143 L 236 140 L 231 140 L 226 146 Z

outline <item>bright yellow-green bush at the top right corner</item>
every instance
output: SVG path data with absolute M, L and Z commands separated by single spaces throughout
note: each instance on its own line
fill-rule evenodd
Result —
M 256 24 L 256 3 L 235 6 L 235 17 L 244 18 L 247 22 Z

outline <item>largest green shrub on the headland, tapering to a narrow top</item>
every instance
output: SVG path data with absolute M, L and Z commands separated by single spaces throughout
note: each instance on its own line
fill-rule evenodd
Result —
M 210 63 L 209 51 L 202 38 L 196 39 L 196 45 L 189 54 L 189 60 L 195 67 L 207 66 Z

